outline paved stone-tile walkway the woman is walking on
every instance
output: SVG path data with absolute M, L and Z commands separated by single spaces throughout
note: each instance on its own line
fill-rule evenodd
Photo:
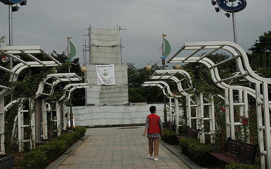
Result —
M 58 169 L 189 169 L 161 144 L 159 160 L 148 159 L 143 132 L 144 126 L 87 129 L 90 136 Z

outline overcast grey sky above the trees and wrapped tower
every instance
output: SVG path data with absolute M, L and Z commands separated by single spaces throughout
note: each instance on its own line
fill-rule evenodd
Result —
M 238 43 L 246 51 L 263 32 L 271 30 L 271 1 L 248 0 L 236 14 Z M 77 56 L 93 28 L 121 31 L 122 62 L 143 67 L 145 60 L 159 60 L 162 33 L 174 54 L 188 41 L 233 41 L 232 20 L 215 12 L 211 0 L 27 0 L 27 6 L 13 12 L 13 45 L 41 45 L 47 52 L 61 53 L 66 37 L 72 37 Z M 8 7 L 0 4 L 0 35 L 8 43 Z M 88 42 L 88 40 L 87 40 Z M 172 55 L 170 54 L 170 56 Z

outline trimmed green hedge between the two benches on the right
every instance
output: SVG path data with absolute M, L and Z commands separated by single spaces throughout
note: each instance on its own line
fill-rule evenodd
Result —
M 209 144 L 200 143 L 194 138 L 180 139 L 179 146 L 183 152 L 199 165 L 208 165 L 211 163 L 212 157 L 210 152 L 214 151 L 214 147 Z

